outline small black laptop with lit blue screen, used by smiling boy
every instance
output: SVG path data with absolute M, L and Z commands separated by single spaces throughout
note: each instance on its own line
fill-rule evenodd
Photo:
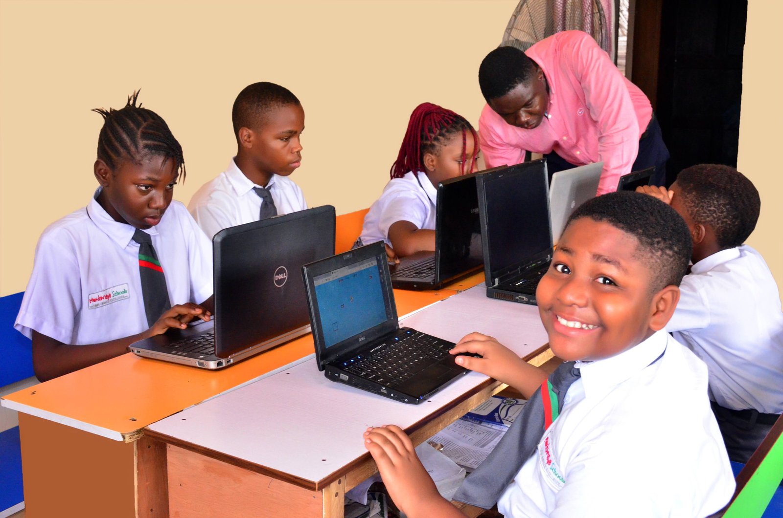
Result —
M 306 264 L 302 276 L 329 380 L 416 405 L 468 372 L 452 342 L 399 326 L 382 242 Z

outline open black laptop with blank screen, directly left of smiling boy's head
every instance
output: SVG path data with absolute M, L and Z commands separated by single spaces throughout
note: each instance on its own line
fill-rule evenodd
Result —
M 552 260 L 546 159 L 477 178 L 487 297 L 536 304 Z

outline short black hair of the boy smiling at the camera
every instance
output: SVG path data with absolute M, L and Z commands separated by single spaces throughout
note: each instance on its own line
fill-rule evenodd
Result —
M 582 218 L 608 223 L 639 241 L 637 252 L 650 267 L 652 293 L 680 286 L 693 241 L 685 220 L 672 207 L 640 192 L 609 192 L 577 207 L 565 228 Z

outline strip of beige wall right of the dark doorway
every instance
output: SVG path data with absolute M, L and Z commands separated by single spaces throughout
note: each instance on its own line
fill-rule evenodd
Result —
M 761 193 L 761 217 L 748 243 L 763 254 L 783 293 L 783 3 L 748 3 L 737 167 Z

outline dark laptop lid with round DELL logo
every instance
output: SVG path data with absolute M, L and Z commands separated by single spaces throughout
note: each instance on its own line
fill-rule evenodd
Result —
M 226 358 L 309 324 L 302 264 L 334 254 L 326 205 L 224 228 L 213 239 L 215 354 Z

